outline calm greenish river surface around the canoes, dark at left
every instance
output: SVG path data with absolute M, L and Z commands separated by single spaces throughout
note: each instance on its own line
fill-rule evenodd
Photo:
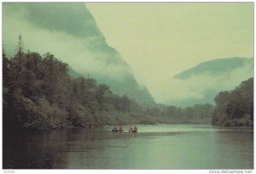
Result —
M 129 126 L 125 126 L 128 130 Z M 253 129 L 193 125 L 20 132 L 3 139 L 3 168 L 253 169 Z

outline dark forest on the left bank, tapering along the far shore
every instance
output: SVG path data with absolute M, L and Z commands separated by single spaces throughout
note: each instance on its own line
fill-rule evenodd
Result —
M 3 128 L 48 130 L 211 121 L 211 104 L 185 109 L 163 104 L 141 106 L 92 78 L 71 77 L 68 65 L 51 53 L 42 56 L 23 50 L 21 36 L 15 56 L 7 58 L 3 50 Z

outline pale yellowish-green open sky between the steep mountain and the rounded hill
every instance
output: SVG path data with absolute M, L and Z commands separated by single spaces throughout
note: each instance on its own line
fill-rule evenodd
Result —
M 201 62 L 253 57 L 253 3 L 86 3 L 86 7 L 109 46 L 156 100 L 172 76 Z

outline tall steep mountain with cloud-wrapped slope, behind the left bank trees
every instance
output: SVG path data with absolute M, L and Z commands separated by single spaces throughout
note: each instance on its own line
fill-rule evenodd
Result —
M 119 53 L 108 46 L 84 3 L 3 3 L 3 42 L 8 55 L 21 34 L 25 48 L 55 53 L 79 74 L 106 83 L 114 93 L 152 105 Z

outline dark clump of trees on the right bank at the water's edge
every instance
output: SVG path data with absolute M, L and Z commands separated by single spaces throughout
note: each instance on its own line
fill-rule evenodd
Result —
M 253 77 L 233 91 L 218 93 L 212 114 L 215 126 L 253 126 Z

